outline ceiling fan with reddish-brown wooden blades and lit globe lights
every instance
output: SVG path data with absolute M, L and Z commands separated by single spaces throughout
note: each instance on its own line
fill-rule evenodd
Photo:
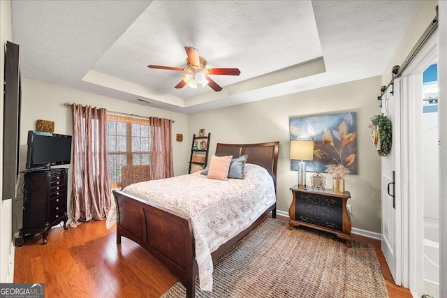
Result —
M 167 70 L 177 70 L 184 71 L 185 74 L 182 75 L 182 80 L 175 85 L 175 88 L 180 89 L 186 86 L 186 84 L 193 88 L 197 88 L 197 84 L 202 84 L 202 87 L 206 85 L 210 86 L 214 91 L 221 91 L 222 87 L 211 80 L 208 75 L 240 75 L 240 70 L 238 68 L 205 68 L 207 66 L 207 61 L 203 57 L 199 57 L 198 50 L 193 47 L 184 47 L 186 50 L 186 65 L 188 68 L 172 67 L 172 66 L 159 66 L 159 65 L 148 65 L 149 68 L 156 69 L 167 69 Z

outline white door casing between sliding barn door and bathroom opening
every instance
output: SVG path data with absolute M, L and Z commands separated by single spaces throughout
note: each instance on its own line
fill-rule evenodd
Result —
M 417 292 L 423 290 L 422 76 L 435 59 L 437 32 L 401 76 L 402 285 Z

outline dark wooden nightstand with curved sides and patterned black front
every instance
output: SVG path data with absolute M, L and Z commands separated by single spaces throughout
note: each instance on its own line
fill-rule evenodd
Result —
M 346 202 L 351 198 L 349 191 L 334 193 L 329 189 L 312 191 L 309 189 L 291 188 L 293 201 L 288 209 L 289 229 L 306 225 L 325 232 L 336 234 L 346 240 L 351 247 L 351 217 L 346 209 Z

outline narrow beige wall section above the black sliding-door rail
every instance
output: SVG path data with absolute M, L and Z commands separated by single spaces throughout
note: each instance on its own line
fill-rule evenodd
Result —
M 406 56 L 408 56 L 411 49 L 418 42 L 420 36 L 423 35 L 425 29 L 432 22 L 433 18 L 436 16 L 436 6 L 438 1 L 428 1 L 422 0 L 416 10 L 416 13 L 411 18 L 411 22 L 406 28 L 404 36 L 400 40 L 393 54 L 393 57 L 388 62 L 382 75 L 382 85 L 387 85 L 391 80 L 391 70 L 393 66 L 402 66 Z M 380 91 L 376 91 L 380 95 Z

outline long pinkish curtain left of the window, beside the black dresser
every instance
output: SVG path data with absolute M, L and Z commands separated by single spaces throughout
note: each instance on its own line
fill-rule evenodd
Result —
M 71 228 L 101 221 L 110 209 L 105 109 L 73 104 Z

